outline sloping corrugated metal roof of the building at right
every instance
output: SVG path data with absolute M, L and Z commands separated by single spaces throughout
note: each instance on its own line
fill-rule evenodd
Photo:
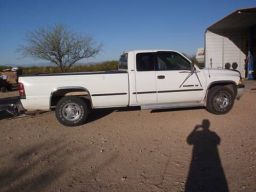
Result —
M 242 29 L 256 24 L 256 7 L 238 9 L 207 28 L 213 29 Z

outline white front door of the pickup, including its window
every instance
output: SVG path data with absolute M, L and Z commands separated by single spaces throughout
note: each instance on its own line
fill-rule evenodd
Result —
M 174 51 L 158 51 L 155 55 L 157 102 L 201 101 L 204 96 L 206 77 L 190 61 Z

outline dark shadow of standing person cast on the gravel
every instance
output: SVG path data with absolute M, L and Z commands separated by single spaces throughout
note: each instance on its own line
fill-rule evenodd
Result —
M 185 185 L 186 192 L 229 191 L 217 148 L 221 139 L 209 130 L 209 126 L 209 120 L 204 119 L 202 125 L 196 125 L 187 137 L 187 143 L 194 147 Z M 200 128 L 202 130 L 198 130 Z

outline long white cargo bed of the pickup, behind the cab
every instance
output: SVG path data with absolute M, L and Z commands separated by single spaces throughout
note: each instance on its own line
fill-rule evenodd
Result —
M 20 76 L 26 110 L 50 110 L 52 95 L 58 89 L 81 89 L 91 97 L 93 108 L 129 104 L 129 81 L 126 71 L 33 74 Z

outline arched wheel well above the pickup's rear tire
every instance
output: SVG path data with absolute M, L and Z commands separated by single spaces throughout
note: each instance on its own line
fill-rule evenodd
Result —
M 56 106 L 56 104 L 59 102 L 59 100 L 65 96 L 79 96 L 84 99 L 84 101 L 87 103 L 87 105 L 90 107 L 92 106 L 91 102 L 91 96 L 89 91 L 85 89 L 57 89 L 51 93 L 50 97 L 50 108 Z

